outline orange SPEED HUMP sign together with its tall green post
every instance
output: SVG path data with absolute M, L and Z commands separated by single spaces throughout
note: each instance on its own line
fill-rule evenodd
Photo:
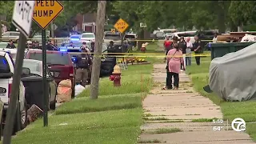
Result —
M 64 7 L 58 1 L 36 0 L 34 3 L 34 22 L 42 28 L 42 92 L 44 97 L 43 126 L 48 126 L 49 96 L 46 82 L 46 27 L 57 18 Z

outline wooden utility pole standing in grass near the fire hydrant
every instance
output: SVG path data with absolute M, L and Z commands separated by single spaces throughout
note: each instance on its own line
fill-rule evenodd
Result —
M 102 56 L 102 41 L 104 34 L 105 25 L 105 14 L 106 14 L 106 1 L 98 1 L 98 10 L 96 18 L 96 42 L 94 50 L 93 68 L 91 73 L 90 82 L 90 98 L 98 98 L 98 81 L 101 66 Z

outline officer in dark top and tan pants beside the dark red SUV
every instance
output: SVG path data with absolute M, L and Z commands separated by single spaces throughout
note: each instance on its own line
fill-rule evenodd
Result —
M 85 48 L 82 48 L 82 53 L 87 53 Z M 81 54 L 81 56 L 77 57 L 77 70 L 75 81 L 76 84 L 81 84 L 82 86 L 86 86 L 86 81 L 88 79 L 88 74 L 91 70 L 92 60 L 89 54 Z

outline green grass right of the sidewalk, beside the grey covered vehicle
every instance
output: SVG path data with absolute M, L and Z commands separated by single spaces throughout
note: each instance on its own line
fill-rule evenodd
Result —
M 201 62 L 202 65 L 197 66 L 192 58 L 192 66 L 186 68 L 186 73 L 190 74 L 190 78 L 192 78 L 194 89 L 221 106 L 223 116 L 229 122 L 232 122 L 234 118 L 243 118 L 246 122 L 256 122 L 256 101 L 224 102 L 216 94 L 208 94 L 202 89 L 208 84 L 210 57 L 202 58 Z M 256 123 L 246 124 L 246 132 L 256 141 Z

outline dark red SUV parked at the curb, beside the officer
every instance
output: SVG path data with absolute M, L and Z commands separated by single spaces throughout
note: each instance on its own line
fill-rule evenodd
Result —
M 42 50 L 28 50 L 26 59 L 42 61 Z M 67 52 L 46 50 L 46 61 L 50 73 L 54 76 L 57 84 L 62 80 L 71 80 L 72 98 L 74 98 L 75 73 L 70 54 Z

